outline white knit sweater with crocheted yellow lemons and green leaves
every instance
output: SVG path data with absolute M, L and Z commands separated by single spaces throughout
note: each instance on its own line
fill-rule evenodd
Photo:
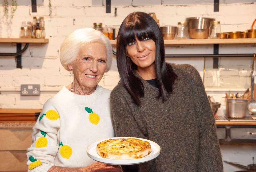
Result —
M 94 163 L 86 154 L 87 145 L 114 137 L 110 119 L 110 92 L 97 85 L 94 93 L 77 95 L 63 86 L 59 93 L 47 100 L 33 127 L 33 144 L 27 149 L 27 165 L 35 159 L 42 165 L 35 165 L 28 171 L 48 171 L 53 165 L 85 167 Z

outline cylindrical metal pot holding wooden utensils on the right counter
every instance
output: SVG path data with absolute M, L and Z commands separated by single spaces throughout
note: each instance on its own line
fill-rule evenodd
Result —
M 226 116 L 228 118 L 245 118 L 248 99 L 226 99 Z

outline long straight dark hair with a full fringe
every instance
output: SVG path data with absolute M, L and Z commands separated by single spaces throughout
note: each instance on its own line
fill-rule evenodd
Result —
M 165 102 L 173 91 L 173 83 L 178 77 L 165 62 L 163 36 L 155 20 L 145 12 L 133 12 L 122 22 L 117 35 L 117 68 L 122 85 L 140 106 L 139 98 L 144 97 L 144 86 L 134 74 L 137 66 L 127 55 L 126 46 L 136 40 L 151 38 L 155 42 L 155 74 L 159 88 L 158 98 Z

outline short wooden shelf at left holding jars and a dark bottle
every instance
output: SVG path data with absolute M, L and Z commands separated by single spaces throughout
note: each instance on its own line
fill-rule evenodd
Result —
M 0 43 L 49 43 L 44 38 L 0 38 Z

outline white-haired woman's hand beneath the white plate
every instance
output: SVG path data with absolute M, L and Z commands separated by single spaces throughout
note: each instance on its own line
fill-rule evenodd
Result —
M 117 165 L 110 165 L 101 162 L 95 162 L 86 168 L 88 168 L 88 172 L 122 171 L 122 169 Z

